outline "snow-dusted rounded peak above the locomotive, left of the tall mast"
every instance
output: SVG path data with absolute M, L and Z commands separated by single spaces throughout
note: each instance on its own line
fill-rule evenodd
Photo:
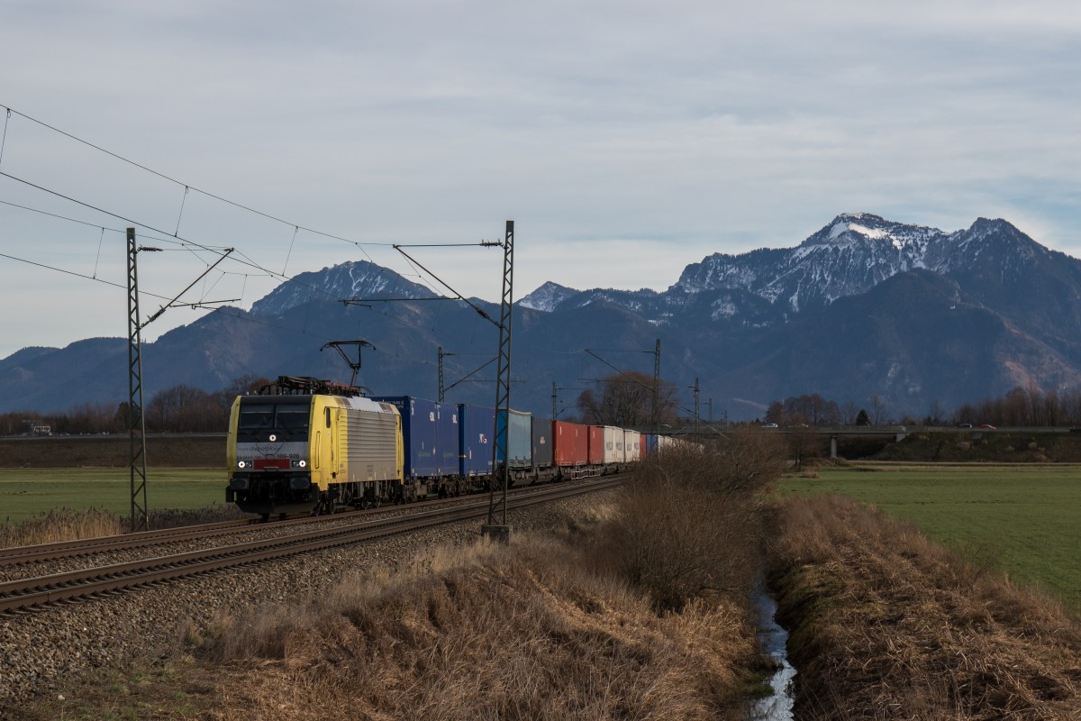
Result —
M 368 261 L 352 261 L 302 272 L 293 282 L 282 283 L 252 305 L 257 316 L 281 316 L 311 301 L 345 298 L 402 297 L 423 298 L 435 295 L 431 290 L 405 280 L 392 270 Z

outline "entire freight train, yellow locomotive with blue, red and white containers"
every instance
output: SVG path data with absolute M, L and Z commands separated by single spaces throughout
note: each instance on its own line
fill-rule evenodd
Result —
M 232 404 L 226 502 L 268 520 L 485 490 L 495 417 L 478 405 L 279 376 Z M 511 485 L 600 476 L 671 442 L 510 411 L 506 466 Z

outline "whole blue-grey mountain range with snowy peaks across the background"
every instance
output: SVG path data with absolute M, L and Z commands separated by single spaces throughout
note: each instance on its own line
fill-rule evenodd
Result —
M 365 262 L 302 273 L 251 312 L 222 308 L 146 344 L 147 389 L 215 390 L 245 374 L 344 379 L 341 360 L 319 349 L 352 337 L 360 322 L 377 348 L 365 352 L 364 385 L 436 397 L 443 348 L 448 377 L 471 382 L 454 388 L 454 400 L 491 403 L 490 378 L 472 382 L 473 361 L 492 352 L 497 334 L 472 308 L 388 303 L 359 316 L 328 303 L 431 295 Z M 703 398 L 732 417 L 805 392 L 857 404 L 875 393 L 892 414 L 920 415 L 932 401 L 950 408 L 1017 386 L 1081 384 L 1081 261 L 1001 219 L 947 232 L 845 213 L 791 248 L 710 255 L 664 292 L 548 282 L 515 313 L 521 380 L 512 403 L 542 414 L 551 412 L 552 384 L 612 371 L 583 349 L 636 351 L 609 362 L 642 370 L 654 338 L 666 380 L 699 380 Z M 125 355 L 124 338 L 24 349 L 0 360 L 0 410 L 115 404 L 126 398 Z

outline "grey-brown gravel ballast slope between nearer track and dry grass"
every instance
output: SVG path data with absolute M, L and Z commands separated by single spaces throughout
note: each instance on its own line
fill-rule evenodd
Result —
M 600 491 L 508 513 L 516 532 L 546 531 L 610 505 L 618 490 Z M 417 551 L 477 539 L 480 521 L 448 523 L 368 544 L 306 553 L 0 618 L 0 718 L 22 702 L 57 693 L 63 680 L 97 668 L 160 657 L 222 614 L 303 601 L 338 583 L 343 573 L 395 565 Z

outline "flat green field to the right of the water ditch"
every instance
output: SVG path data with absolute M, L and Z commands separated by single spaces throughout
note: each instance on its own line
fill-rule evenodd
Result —
M 841 494 L 916 523 L 971 562 L 1081 613 L 1081 466 L 857 464 L 786 478 L 783 493 Z

